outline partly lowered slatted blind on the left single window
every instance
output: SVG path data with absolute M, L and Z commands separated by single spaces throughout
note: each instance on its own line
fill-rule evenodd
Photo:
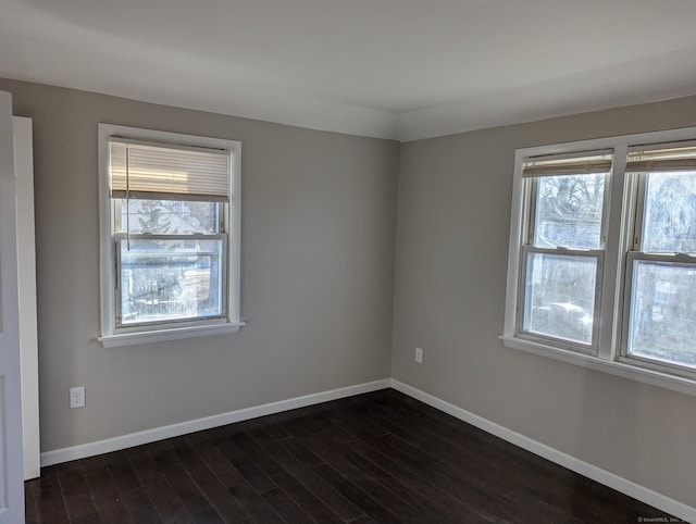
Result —
M 229 151 L 119 137 L 109 150 L 112 198 L 229 200 Z

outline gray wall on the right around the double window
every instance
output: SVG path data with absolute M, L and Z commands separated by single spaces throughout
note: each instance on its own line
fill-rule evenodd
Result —
M 393 376 L 696 507 L 695 397 L 497 338 L 514 149 L 686 126 L 696 126 L 696 98 L 403 144 Z

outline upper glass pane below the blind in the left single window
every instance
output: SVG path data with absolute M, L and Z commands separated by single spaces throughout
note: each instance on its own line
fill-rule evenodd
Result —
M 217 232 L 215 202 L 119 199 L 121 227 L 116 233 L 152 235 L 214 235 Z

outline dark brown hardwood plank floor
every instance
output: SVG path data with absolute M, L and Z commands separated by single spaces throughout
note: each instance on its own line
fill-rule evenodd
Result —
M 45 467 L 25 491 L 27 523 L 669 521 L 393 389 Z

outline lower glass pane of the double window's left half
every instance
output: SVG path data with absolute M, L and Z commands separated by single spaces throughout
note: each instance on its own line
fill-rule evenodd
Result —
M 592 344 L 597 259 L 529 253 L 523 328 Z

